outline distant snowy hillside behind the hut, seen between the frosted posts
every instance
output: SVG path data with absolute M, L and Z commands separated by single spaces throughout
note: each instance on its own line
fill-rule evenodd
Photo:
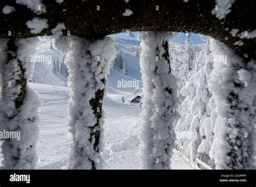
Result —
M 123 54 L 126 55 L 128 71 L 127 74 L 122 74 L 122 70 L 110 69 L 110 74 L 107 75 L 109 86 L 107 91 L 109 93 L 120 93 L 126 92 L 127 95 L 131 95 L 133 88 L 120 88 L 118 87 L 118 81 L 132 81 L 137 82 L 139 85 L 139 95 L 142 95 L 142 74 L 140 73 L 139 65 L 139 53 L 140 53 L 140 41 L 136 39 L 123 39 L 112 37 L 115 41 L 115 46 L 117 50 L 120 50 Z M 50 62 L 36 62 L 35 71 L 33 73 L 32 82 L 66 86 L 68 79 L 59 75 L 58 73 L 52 73 L 52 62 L 53 59 L 63 59 L 64 55 L 58 52 L 55 48 L 51 47 L 51 40 L 49 37 L 39 37 L 39 45 L 37 47 L 36 55 L 50 55 Z M 200 47 L 200 45 L 197 45 Z M 173 59 L 173 56 L 181 56 L 183 54 L 185 45 L 177 42 L 170 43 L 170 57 Z

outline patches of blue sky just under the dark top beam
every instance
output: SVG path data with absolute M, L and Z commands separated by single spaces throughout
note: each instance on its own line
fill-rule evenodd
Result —
M 134 39 L 137 39 L 138 32 L 133 32 L 133 35 L 134 35 L 135 38 L 132 38 L 132 37 L 129 37 L 129 36 L 127 37 L 126 33 L 123 32 L 123 33 L 119 33 L 118 37 L 134 40 Z M 200 39 L 198 34 L 191 34 L 190 40 L 193 44 L 203 43 L 203 41 Z M 173 42 L 184 42 L 185 41 L 185 33 L 181 33 L 178 38 L 173 38 L 173 39 L 171 39 L 171 41 L 173 41 Z

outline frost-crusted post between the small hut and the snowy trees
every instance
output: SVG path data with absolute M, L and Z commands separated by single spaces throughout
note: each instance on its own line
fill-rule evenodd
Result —
M 144 104 L 140 114 L 142 167 L 169 169 L 174 143 L 173 125 L 177 118 L 176 78 L 171 73 L 168 40 L 174 33 L 141 32 Z

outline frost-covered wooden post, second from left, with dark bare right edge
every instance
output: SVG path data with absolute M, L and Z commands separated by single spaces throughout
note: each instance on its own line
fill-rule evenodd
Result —
M 63 40 L 61 40 L 63 42 Z M 65 60 L 72 87 L 69 126 L 72 134 L 70 169 L 99 169 L 103 160 L 102 101 L 111 60 L 116 55 L 111 38 L 96 40 L 72 38 Z

